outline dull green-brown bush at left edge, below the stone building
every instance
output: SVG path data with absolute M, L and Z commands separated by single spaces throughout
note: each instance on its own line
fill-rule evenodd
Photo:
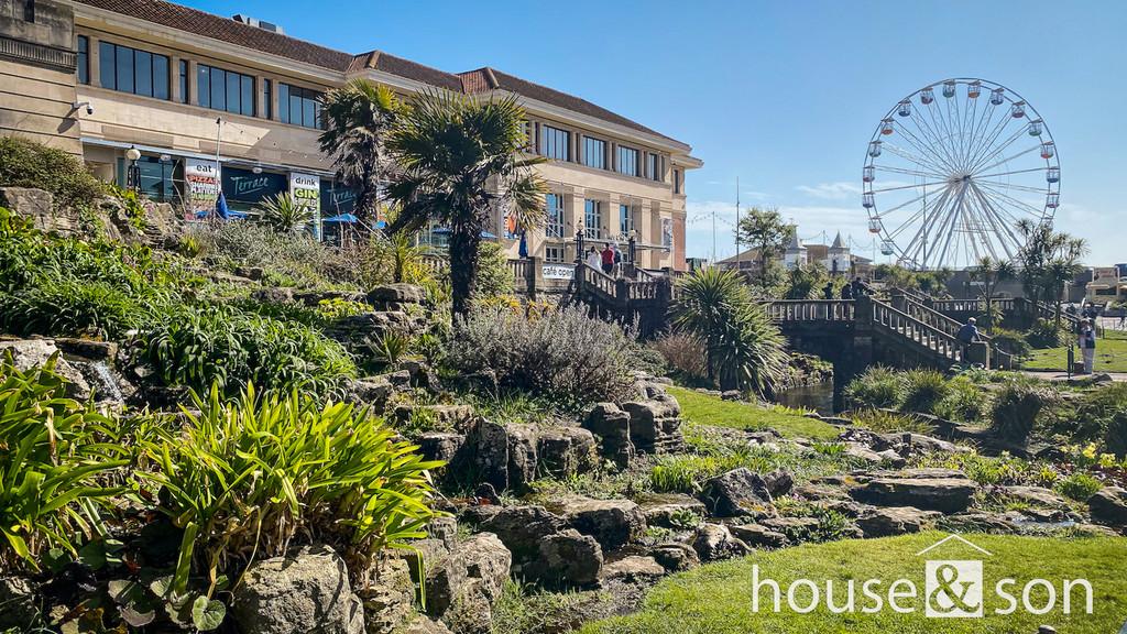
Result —
M 45 190 L 57 209 L 90 205 L 105 193 L 82 159 L 17 137 L 0 137 L 0 186 Z

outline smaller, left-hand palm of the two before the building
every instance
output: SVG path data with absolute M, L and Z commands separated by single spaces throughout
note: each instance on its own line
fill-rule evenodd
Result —
M 326 93 L 321 117 L 321 151 L 332 157 L 337 178 L 356 192 L 356 217 L 371 227 L 383 177 L 383 139 L 401 112 L 396 94 L 385 86 L 355 79 Z

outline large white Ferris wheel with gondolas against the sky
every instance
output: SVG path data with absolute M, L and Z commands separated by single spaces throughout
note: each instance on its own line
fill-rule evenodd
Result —
M 1020 95 L 948 79 L 893 106 L 866 151 L 861 204 L 880 252 L 913 268 L 1013 259 L 1017 224 L 1053 222 L 1061 162 L 1048 125 Z

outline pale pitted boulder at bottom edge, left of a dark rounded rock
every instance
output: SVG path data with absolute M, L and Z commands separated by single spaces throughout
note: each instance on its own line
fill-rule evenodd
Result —
M 489 632 L 492 605 L 508 579 L 513 556 L 491 532 L 465 538 L 427 565 L 426 611 L 463 632 Z

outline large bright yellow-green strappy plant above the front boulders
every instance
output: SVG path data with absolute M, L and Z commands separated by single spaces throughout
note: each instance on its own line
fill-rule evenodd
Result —
M 350 405 L 289 395 L 196 399 L 183 430 L 142 443 L 161 511 L 186 530 L 181 562 L 215 579 L 233 564 L 282 555 L 298 539 L 334 544 L 367 562 L 425 537 L 435 516 L 415 447 Z M 186 570 L 174 585 L 183 585 Z

